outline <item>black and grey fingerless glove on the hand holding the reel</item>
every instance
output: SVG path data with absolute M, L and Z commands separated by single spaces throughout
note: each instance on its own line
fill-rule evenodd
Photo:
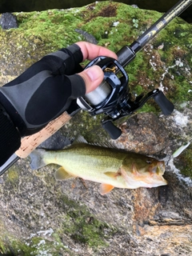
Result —
M 86 93 L 78 45 L 48 54 L 0 88 L 0 102 L 22 136 L 34 134 Z M 71 75 L 73 74 L 73 75 Z

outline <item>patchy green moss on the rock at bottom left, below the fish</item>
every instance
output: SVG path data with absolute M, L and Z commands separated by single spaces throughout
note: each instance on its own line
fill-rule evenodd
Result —
M 50 236 L 42 233 L 32 232 L 29 238 L 14 238 L 1 227 L 0 253 L 19 256 L 51 254 L 74 255 L 65 244 L 63 234 L 70 236 L 74 242 L 82 243 L 93 250 L 107 246 L 106 239 L 111 238 L 117 232 L 116 228 L 109 226 L 106 222 L 99 221 L 86 206 L 80 205 L 67 196 L 61 196 L 63 216 L 58 230 L 53 230 Z

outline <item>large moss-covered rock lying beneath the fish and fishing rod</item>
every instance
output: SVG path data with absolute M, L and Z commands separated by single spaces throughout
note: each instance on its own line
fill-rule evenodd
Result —
M 80 35 L 74 33 L 77 27 L 93 34 L 100 45 L 117 51 L 150 26 L 154 15 L 112 2 L 93 3 L 82 9 L 18 14 L 17 31 L 1 30 L 1 85 L 44 54 L 78 41 Z M 138 29 L 133 26 L 133 18 L 139 20 Z M 116 26 L 114 22 L 118 22 Z M 88 142 L 110 141 L 119 148 L 164 159 L 168 185 L 137 190 L 117 188 L 102 196 L 96 182 L 79 178 L 55 182 L 58 166 L 32 171 L 30 158 L 21 159 L 0 178 L 0 253 L 192 254 L 191 146 L 185 154 L 172 157 L 192 137 L 190 31 L 191 26 L 178 19 L 142 50 L 127 69 L 131 92 L 140 94 L 141 90 L 148 92 L 154 86 L 160 87 L 175 104 L 173 114 L 162 115 L 158 106 L 150 102 L 143 106 L 142 113 L 118 123 L 122 136 L 112 142 L 101 128 L 102 117 L 92 118 L 82 112 L 42 145 L 58 149 L 78 134 Z M 180 42 L 183 37 L 188 38 L 187 46 Z M 158 48 L 163 42 L 162 49 Z M 187 174 L 181 169 L 188 170 Z

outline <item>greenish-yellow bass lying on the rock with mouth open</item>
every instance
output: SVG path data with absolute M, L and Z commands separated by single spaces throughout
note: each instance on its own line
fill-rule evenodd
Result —
M 162 176 L 165 172 L 164 161 L 84 141 L 75 142 L 63 150 L 37 149 L 30 154 L 30 158 L 32 170 L 49 164 L 60 166 L 54 173 L 57 181 L 82 178 L 101 183 L 102 195 L 114 187 L 137 189 L 167 184 Z

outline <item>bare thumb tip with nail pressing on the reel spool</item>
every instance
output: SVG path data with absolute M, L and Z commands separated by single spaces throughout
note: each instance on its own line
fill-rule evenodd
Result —
M 97 65 L 90 66 L 88 69 L 83 70 L 81 73 L 78 73 L 78 75 L 83 78 L 86 84 L 86 94 L 96 89 L 104 78 L 102 69 L 100 68 L 100 66 Z

